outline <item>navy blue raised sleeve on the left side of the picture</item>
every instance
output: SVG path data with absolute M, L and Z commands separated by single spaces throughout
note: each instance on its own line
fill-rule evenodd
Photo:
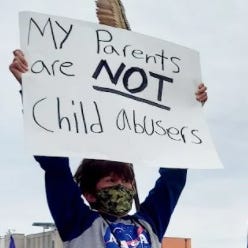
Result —
M 47 202 L 61 239 L 72 240 L 90 227 L 97 215 L 83 202 L 68 158 L 35 156 L 35 159 L 45 170 Z

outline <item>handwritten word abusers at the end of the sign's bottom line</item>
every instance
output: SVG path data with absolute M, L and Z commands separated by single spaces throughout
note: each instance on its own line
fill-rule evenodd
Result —
M 146 115 L 139 118 L 135 110 L 130 114 L 125 109 L 121 109 L 116 116 L 116 127 L 120 131 L 130 130 L 136 134 L 146 134 L 148 136 L 167 135 L 171 140 L 183 143 L 201 144 L 203 142 L 197 129 L 190 129 L 186 126 L 166 128 L 162 120 L 154 120 Z

